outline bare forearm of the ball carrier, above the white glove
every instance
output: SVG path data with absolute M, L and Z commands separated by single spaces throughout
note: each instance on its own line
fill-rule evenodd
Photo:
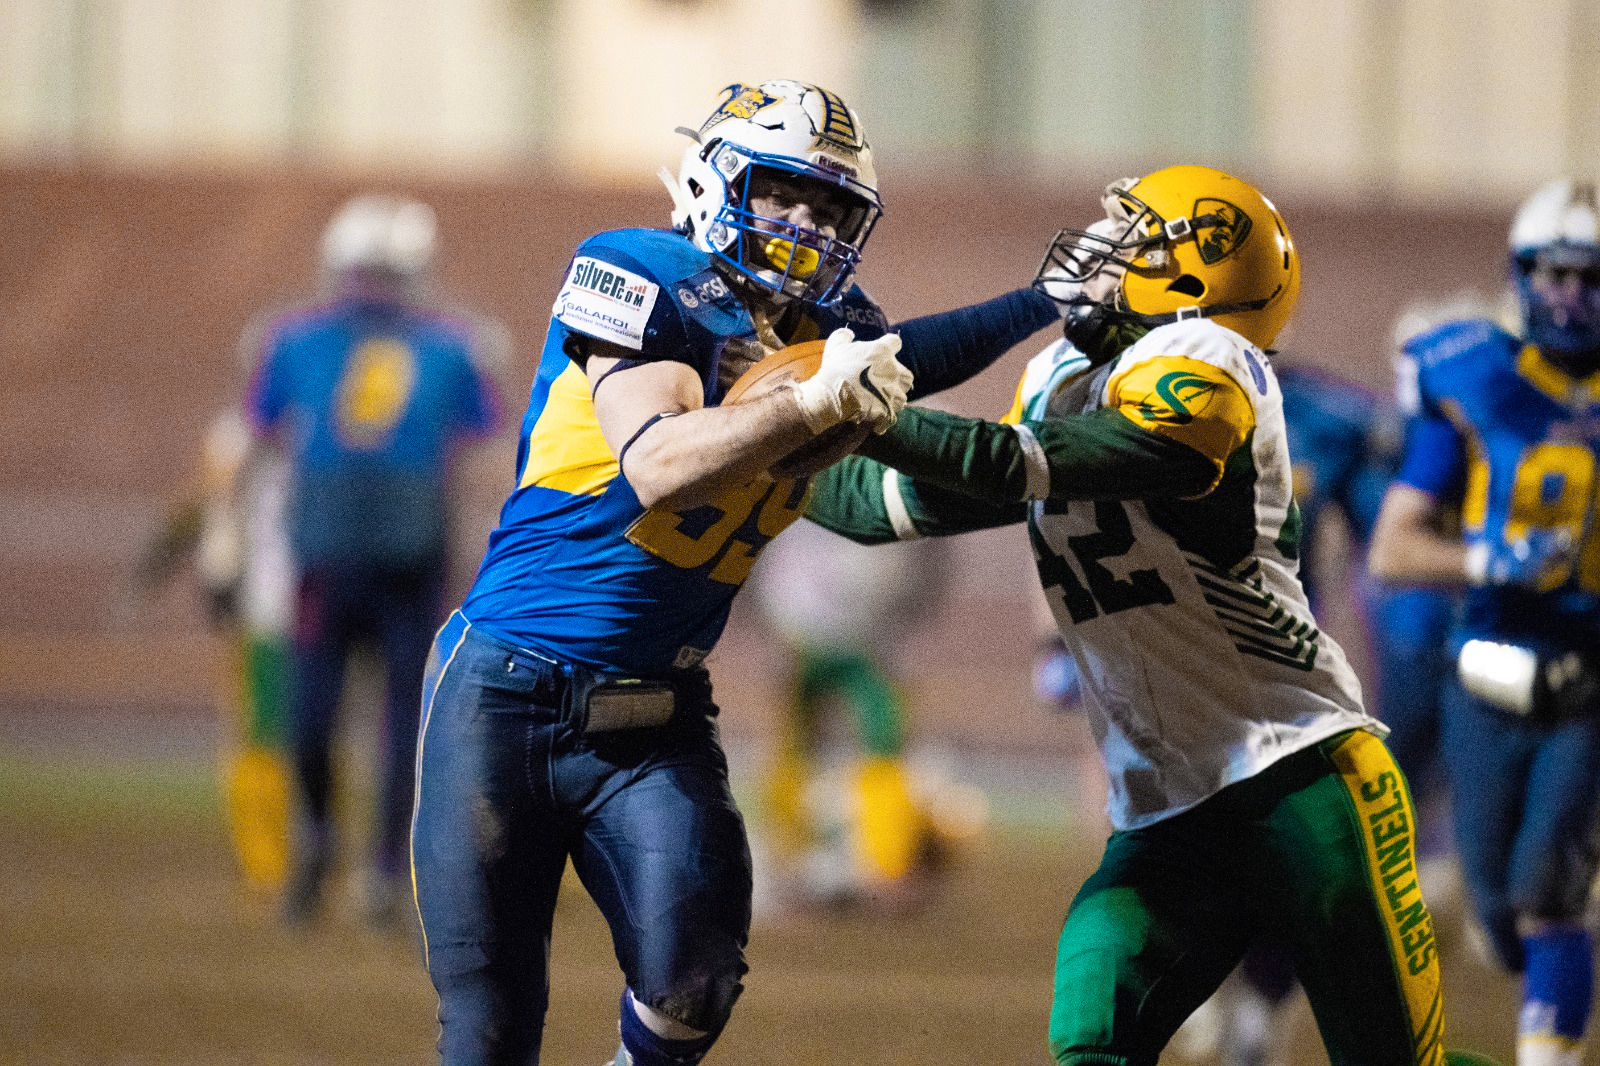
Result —
M 778 389 L 656 421 L 626 450 L 622 472 L 646 507 L 683 511 L 749 483 L 811 435 L 794 392 Z

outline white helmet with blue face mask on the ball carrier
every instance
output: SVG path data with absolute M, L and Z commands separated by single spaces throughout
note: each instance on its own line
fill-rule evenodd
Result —
M 883 213 L 861 120 L 838 94 L 803 82 L 734 83 L 699 130 L 672 194 L 672 227 L 770 296 L 827 304 L 845 291 Z M 750 210 L 750 178 L 776 171 L 845 194 L 835 235 Z

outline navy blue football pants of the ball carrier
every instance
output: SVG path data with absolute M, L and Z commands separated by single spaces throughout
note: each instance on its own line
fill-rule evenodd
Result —
M 638 1002 L 718 1032 L 742 991 L 750 852 L 710 682 L 666 725 L 592 735 L 563 687 L 459 613 L 435 642 L 411 863 L 446 1066 L 538 1061 L 568 858 Z

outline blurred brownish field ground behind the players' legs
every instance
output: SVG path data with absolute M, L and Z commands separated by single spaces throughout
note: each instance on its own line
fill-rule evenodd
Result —
M 0 1064 L 435 1061 L 434 994 L 408 938 L 371 933 L 338 904 L 312 933 L 290 933 L 242 893 L 214 741 L 192 719 L 136 711 L 0 714 Z M 1056 932 L 1102 842 L 1099 797 L 1075 791 L 1099 783 L 1075 767 L 976 767 L 994 832 L 910 917 L 760 922 L 710 1061 L 1045 1066 Z M 1515 983 L 1466 957 L 1459 936 L 1445 946 L 1450 1042 L 1509 1064 Z M 552 975 L 544 1061 L 600 1066 L 621 978 L 576 882 Z M 1290 1061 L 1326 1061 L 1304 1002 L 1283 1024 Z

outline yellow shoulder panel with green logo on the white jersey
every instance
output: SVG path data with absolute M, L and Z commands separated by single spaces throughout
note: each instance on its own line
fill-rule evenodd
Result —
M 1134 426 L 1189 445 L 1216 463 L 1218 477 L 1256 427 L 1256 408 L 1234 376 L 1184 355 L 1157 355 L 1118 371 L 1106 405 Z

